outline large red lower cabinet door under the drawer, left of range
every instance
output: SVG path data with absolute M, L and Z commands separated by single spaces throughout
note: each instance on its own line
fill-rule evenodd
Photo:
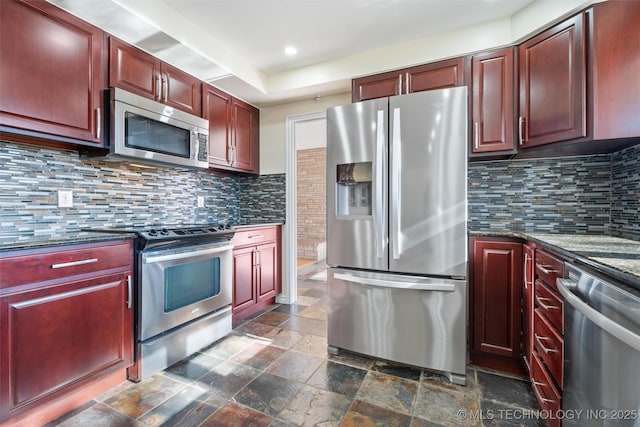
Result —
M 61 396 L 132 362 L 126 274 L 85 279 L 0 299 L 1 414 Z

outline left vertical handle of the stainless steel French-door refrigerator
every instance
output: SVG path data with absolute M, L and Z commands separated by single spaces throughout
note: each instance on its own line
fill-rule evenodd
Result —
M 376 124 L 376 152 L 374 158 L 374 203 L 373 203 L 373 221 L 374 232 L 376 238 L 376 256 L 382 258 L 384 256 L 385 232 L 384 224 L 386 221 L 385 206 L 387 205 L 386 191 L 384 183 L 387 181 L 386 169 L 387 162 L 385 158 L 385 138 L 384 138 L 384 110 L 378 110 Z

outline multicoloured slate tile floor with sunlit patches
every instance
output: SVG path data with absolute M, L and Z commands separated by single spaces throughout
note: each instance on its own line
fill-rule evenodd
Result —
M 328 355 L 323 268 L 299 275 L 296 305 L 269 307 L 186 360 L 48 427 L 543 425 L 528 381 L 469 366 L 462 387 L 415 368 Z

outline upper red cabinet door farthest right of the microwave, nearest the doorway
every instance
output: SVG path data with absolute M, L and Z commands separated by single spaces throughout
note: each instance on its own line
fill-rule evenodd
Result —
M 259 172 L 260 162 L 260 112 L 238 99 L 233 98 L 231 104 L 233 128 L 232 166 L 245 172 Z

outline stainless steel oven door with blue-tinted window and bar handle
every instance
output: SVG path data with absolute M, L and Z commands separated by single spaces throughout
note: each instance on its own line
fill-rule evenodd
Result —
M 140 341 L 231 304 L 229 242 L 142 251 L 140 257 Z

